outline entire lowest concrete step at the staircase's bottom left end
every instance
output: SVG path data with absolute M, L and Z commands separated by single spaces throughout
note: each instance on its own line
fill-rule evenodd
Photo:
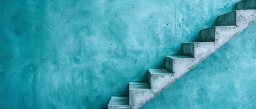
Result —
M 112 96 L 108 109 L 131 109 L 129 106 L 129 97 L 128 96 Z

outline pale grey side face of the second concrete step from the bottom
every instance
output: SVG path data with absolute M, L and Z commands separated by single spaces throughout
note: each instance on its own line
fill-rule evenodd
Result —
M 129 105 L 131 109 L 138 109 L 154 96 L 151 89 L 129 90 Z

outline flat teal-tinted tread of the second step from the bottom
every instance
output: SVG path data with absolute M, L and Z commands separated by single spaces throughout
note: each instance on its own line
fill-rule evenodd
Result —
M 131 82 L 129 83 L 129 89 L 150 89 L 149 84 L 147 82 Z

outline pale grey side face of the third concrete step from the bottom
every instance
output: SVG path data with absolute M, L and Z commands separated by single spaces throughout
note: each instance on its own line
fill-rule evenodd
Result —
M 150 74 L 150 72 L 148 72 L 148 78 L 148 83 L 150 83 L 154 94 L 161 92 L 166 85 L 174 80 L 173 74 Z

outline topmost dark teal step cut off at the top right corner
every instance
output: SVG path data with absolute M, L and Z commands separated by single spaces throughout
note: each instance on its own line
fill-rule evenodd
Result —
M 234 5 L 234 10 L 253 10 L 256 9 L 256 0 L 241 0 Z

